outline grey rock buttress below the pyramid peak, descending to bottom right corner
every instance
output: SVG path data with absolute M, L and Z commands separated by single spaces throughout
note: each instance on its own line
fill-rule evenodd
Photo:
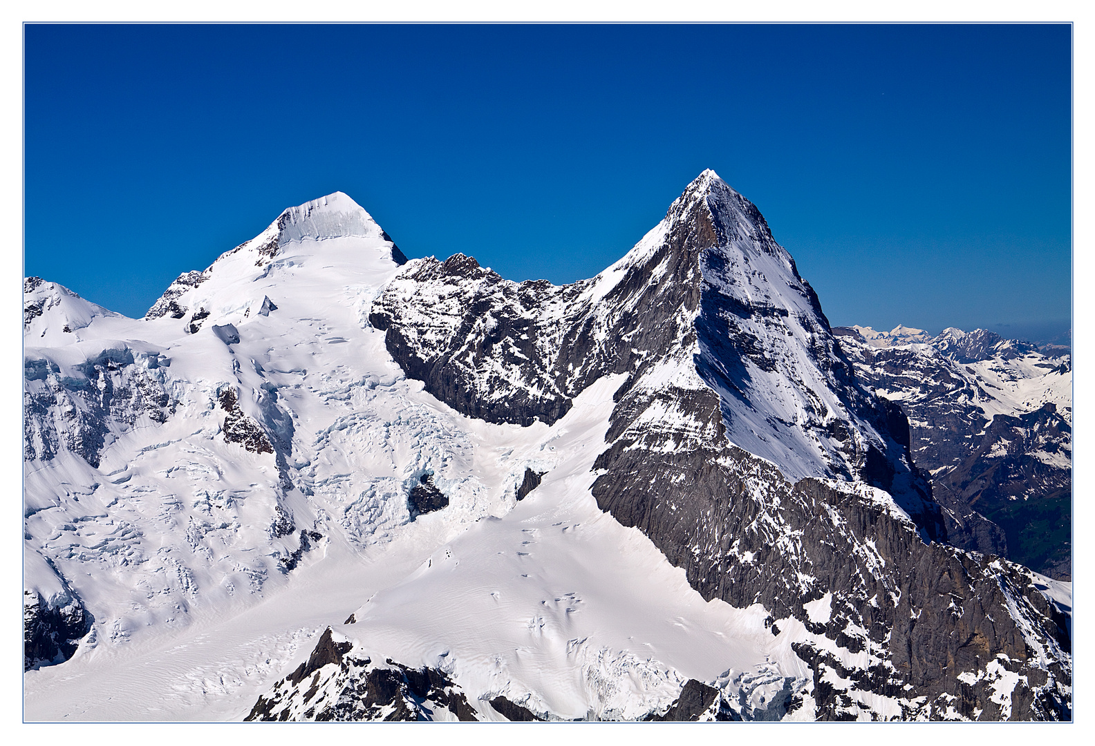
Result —
M 982 719 L 1069 718 L 1067 632 L 1023 568 L 924 545 L 910 522 L 875 504 L 869 492 L 818 480 L 793 487 L 744 452 L 611 458 L 600 463 L 609 474 L 593 487 L 598 504 L 649 536 L 705 598 L 738 607 L 759 602 L 817 636 L 795 650 L 814 669 L 819 719 L 858 718 L 856 692 L 891 698 L 901 719 L 945 718 L 954 697 L 969 700 Z M 629 466 L 634 477 L 621 480 Z M 671 489 L 681 474 L 695 477 L 683 494 Z M 676 511 L 666 510 L 670 502 Z M 831 616 L 814 622 L 804 604 L 827 593 Z M 1010 604 L 1022 609 L 1021 619 L 1008 614 Z M 846 651 L 844 663 L 817 652 L 830 645 Z M 1042 650 L 1052 651 L 1048 666 L 1039 661 Z M 858 669 L 846 663 L 862 651 L 877 662 Z M 986 672 L 1001 654 L 1008 671 L 1031 683 L 1016 688 L 1006 712 L 992 702 L 996 679 L 972 687 L 957 679 Z M 828 668 L 853 684 L 833 689 L 825 683 Z

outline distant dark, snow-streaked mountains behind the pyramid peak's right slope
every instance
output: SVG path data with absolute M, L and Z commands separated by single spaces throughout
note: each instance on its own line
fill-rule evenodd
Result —
M 911 422 L 917 465 L 930 473 L 944 506 L 947 541 L 999 555 L 1059 580 L 1071 578 L 1072 428 L 1054 404 L 991 419 L 996 376 L 1017 375 L 1007 361 L 1049 378 L 1071 371 L 1030 346 L 991 331 L 947 329 L 930 345 L 875 348 L 841 329 L 857 374 L 894 396 Z M 948 357 L 954 355 L 954 357 Z

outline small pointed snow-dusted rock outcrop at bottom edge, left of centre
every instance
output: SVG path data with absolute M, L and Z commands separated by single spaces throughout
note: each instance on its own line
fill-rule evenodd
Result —
M 393 661 L 376 665 L 351 650 L 348 641 L 335 641 L 328 627 L 308 661 L 260 697 L 244 720 L 423 721 L 435 720 L 442 708 L 458 720 L 479 720 L 443 672 Z

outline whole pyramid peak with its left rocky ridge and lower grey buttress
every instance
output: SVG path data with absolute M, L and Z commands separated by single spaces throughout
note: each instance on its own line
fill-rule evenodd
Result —
M 803 630 L 819 719 L 1071 716 L 1068 633 L 1034 576 L 938 544 L 906 415 L 866 389 L 789 255 L 717 177 L 593 280 L 416 260 L 370 320 L 407 375 L 494 422 L 553 422 L 626 374 L 598 505 L 703 597 Z M 786 695 L 769 714 L 802 707 Z

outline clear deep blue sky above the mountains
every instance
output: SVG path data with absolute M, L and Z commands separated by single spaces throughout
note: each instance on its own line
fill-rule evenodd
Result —
M 1071 324 L 1065 25 L 25 26 L 25 273 L 131 316 L 339 189 L 569 282 L 706 167 L 833 324 Z

